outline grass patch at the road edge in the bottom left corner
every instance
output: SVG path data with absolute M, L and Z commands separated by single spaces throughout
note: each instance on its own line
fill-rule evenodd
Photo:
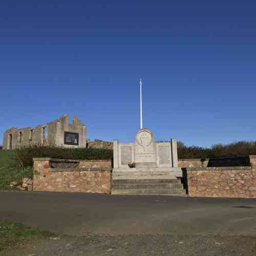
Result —
M 22 245 L 33 238 L 46 238 L 53 234 L 17 222 L 0 222 L 0 252 Z

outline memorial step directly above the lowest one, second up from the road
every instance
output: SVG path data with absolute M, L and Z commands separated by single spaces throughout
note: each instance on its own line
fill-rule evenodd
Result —
M 112 189 L 183 189 L 183 185 L 181 183 L 114 184 Z

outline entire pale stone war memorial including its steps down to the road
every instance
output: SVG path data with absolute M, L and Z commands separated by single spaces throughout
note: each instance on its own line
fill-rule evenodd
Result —
M 184 196 L 181 177 L 176 139 L 154 143 L 153 133 L 141 129 L 135 143 L 114 140 L 112 194 Z

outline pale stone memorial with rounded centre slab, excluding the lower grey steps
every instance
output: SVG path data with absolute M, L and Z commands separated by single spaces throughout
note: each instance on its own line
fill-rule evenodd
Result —
M 148 129 L 140 129 L 135 143 L 114 140 L 113 180 L 118 179 L 173 179 L 181 177 L 178 167 L 177 141 L 154 142 Z

